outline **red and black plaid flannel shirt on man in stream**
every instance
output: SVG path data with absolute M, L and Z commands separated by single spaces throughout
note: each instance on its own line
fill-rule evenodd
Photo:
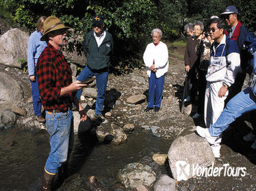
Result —
M 72 106 L 72 93 L 60 97 L 60 90 L 72 83 L 71 67 L 62 53 L 51 44 L 44 48 L 38 58 L 36 76 L 44 109 L 68 111 L 68 107 Z

